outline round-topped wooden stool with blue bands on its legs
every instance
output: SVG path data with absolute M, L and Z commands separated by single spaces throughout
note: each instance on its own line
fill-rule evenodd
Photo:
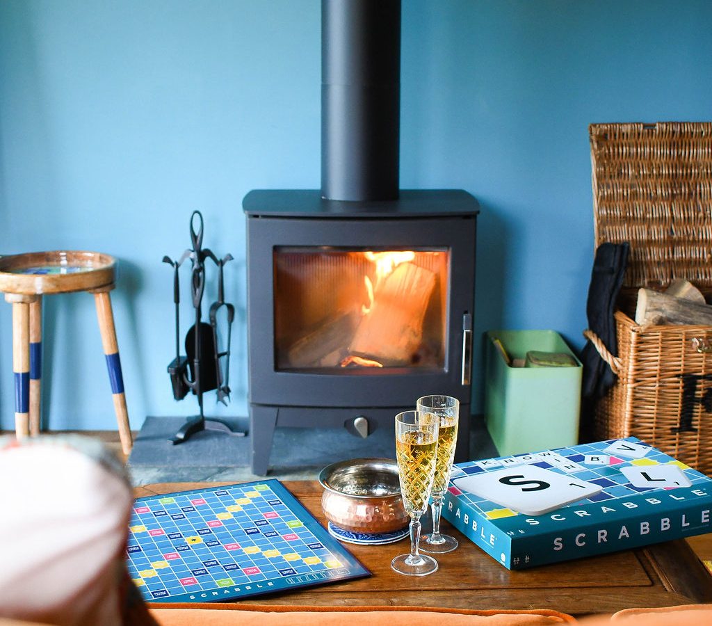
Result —
M 40 432 L 42 296 L 88 291 L 94 294 L 121 448 L 124 454 L 131 452 L 131 430 L 109 297 L 115 278 L 116 260 L 98 252 L 33 252 L 0 257 L 0 291 L 12 303 L 17 437 Z

